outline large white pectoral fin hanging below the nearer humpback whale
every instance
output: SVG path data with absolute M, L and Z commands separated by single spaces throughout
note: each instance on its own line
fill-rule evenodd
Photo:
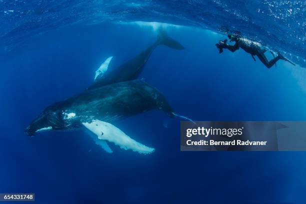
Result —
M 119 128 L 108 122 L 92 120 L 90 123 L 82 122 L 82 124 L 91 132 L 93 132 L 98 139 L 113 142 L 123 149 L 131 149 L 139 153 L 151 153 L 154 151 L 154 148 L 145 146 L 133 140 Z

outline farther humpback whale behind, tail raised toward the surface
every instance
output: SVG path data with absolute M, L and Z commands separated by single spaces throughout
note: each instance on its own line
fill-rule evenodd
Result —
M 184 49 L 184 47 L 179 42 L 170 38 L 165 30 L 160 30 L 157 40 L 152 45 L 144 49 L 131 60 L 112 70 L 107 70 L 112 56 L 108 57 L 104 63 L 102 63 L 101 66 L 96 70 L 94 82 L 88 87 L 88 89 L 107 85 L 110 83 L 136 79 L 142 71 L 152 51 L 160 44 L 166 45 L 173 49 Z

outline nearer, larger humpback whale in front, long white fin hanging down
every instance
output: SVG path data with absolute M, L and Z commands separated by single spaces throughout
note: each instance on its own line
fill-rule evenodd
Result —
M 165 97 L 146 82 L 118 82 L 86 90 L 46 107 L 26 127 L 25 133 L 33 135 L 47 130 L 83 128 L 89 130 L 95 142 L 107 152 L 111 152 L 106 143 L 110 141 L 124 149 L 150 153 L 153 148 L 133 140 L 109 122 L 153 108 L 159 108 L 169 116 L 175 115 Z

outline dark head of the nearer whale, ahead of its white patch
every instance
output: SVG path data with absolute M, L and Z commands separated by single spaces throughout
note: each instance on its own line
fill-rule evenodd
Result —
M 32 136 L 37 132 L 60 129 L 61 120 L 61 111 L 53 111 L 47 107 L 25 128 L 24 132 Z

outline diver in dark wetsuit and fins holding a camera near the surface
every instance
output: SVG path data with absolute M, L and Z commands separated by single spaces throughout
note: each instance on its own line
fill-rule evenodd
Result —
M 238 37 L 238 36 L 233 35 L 233 34 L 228 34 L 227 36 L 229 38 L 229 41 L 230 42 L 234 41 L 235 44 L 234 45 L 227 44 L 227 39 L 224 39 L 223 41 L 219 40 L 219 43 L 215 44 L 216 47 L 219 49 L 219 53 L 223 52 L 223 48 L 227 48 L 230 51 L 234 52 L 237 49 L 239 49 L 239 47 L 241 47 L 244 51 L 251 54 L 254 61 L 256 61 L 256 59 L 254 57 L 256 55 L 259 58 L 259 60 L 268 68 L 273 66 L 276 63 L 276 61 L 278 61 L 279 59 L 283 59 L 283 60 L 288 61 L 289 63 L 295 65 L 292 61 L 290 61 L 289 59 L 282 56 L 279 52 L 278 52 L 276 57 L 274 57 L 273 52 L 271 52 L 271 54 L 273 55 L 274 58 L 269 61 L 266 58 L 266 56 L 264 55 L 264 52 L 267 50 L 267 48 L 263 47 L 258 42 L 251 41 L 251 40 L 246 39 L 244 37 Z M 276 64 L 275 64 L 275 66 L 276 66 Z

